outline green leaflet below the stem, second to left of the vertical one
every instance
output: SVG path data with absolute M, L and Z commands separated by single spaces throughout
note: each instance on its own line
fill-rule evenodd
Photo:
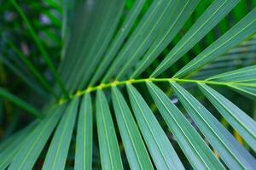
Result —
M 56 106 L 48 111 L 43 120 L 38 122 L 37 127 L 29 133 L 26 141 L 20 146 L 9 170 L 32 169 L 65 108 L 66 105 Z

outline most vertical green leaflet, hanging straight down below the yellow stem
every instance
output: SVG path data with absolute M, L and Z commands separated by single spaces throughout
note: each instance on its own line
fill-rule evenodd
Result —
M 75 170 L 90 170 L 92 166 L 92 108 L 90 94 L 85 94 L 79 111 L 75 152 Z

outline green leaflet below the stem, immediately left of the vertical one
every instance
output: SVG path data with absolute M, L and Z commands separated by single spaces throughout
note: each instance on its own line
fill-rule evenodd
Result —
M 75 118 L 78 112 L 79 98 L 75 98 L 67 105 L 61 122 L 58 124 L 49 150 L 45 157 L 43 170 L 65 169 L 69 144 L 71 142 Z

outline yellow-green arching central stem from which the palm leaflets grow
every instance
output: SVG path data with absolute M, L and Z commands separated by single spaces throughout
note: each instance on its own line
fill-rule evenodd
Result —
M 84 94 L 95 92 L 98 89 L 105 89 L 105 88 L 111 88 L 112 86 L 123 86 L 125 84 L 135 84 L 135 83 L 142 83 L 142 82 L 190 82 L 190 83 L 215 84 L 220 86 L 241 85 L 241 86 L 256 88 L 256 84 L 248 84 L 248 83 L 242 83 L 242 82 L 215 82 L 215 81 L 208 81 L 208 80 L 189 80 L 189 79 L 179 79 L 179 78 L 142 78 L 142 79 L 129 79 L 121 82 L 115 81 L 115 82 L 109 82 L 109 83 L 102 83 L 94 87 L 88 87 L 84 90 L 77 91 L 76 94 L 70 95 L 69 99 L 73 99 L 75 97 L 79 97 Z M 60 99 L 58 104 L 62 105 L 66 103 L 69 99 Z

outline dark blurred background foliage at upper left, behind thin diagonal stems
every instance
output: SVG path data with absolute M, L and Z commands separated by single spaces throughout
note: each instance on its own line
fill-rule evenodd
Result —
M 17 3 L 25 12 L 57 67 L 61 57 L 61 2 L 22 0 Z M 10 1 L 0 1 L 0 20 L 0 86 L 42 108 L 49 96 L 20 56 L 29 59 L 52 85 L 54 79 L 24 20 L 17 14 Z M 8 101 L 0 99 L 1 139 L 7 138 L 10 133 L 31 121 L 23 112 Z

